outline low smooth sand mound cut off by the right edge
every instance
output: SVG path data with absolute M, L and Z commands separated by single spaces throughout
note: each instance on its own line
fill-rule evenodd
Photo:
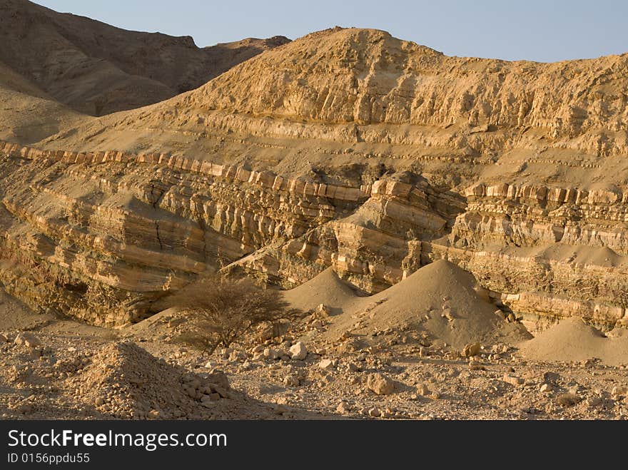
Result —
M 571 317 L 520 346 L 538 361 L 577 362 L 597 358 L 607 365 L 628 364 L 628 337 L 605 337 L 582 318 Z

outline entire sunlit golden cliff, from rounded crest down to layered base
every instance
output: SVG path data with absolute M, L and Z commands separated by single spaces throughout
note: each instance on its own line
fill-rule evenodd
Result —
M 379 292 L 433 260 L 537 332 L 628 325 L 628 56 L 443 56 L 333 29 L 198 90 L 6 143 L 0 280 L 120 325 L 206 270 Z

